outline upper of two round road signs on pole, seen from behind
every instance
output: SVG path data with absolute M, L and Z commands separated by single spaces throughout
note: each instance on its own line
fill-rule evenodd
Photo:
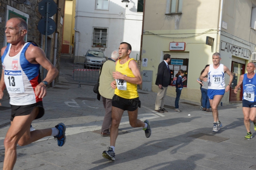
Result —
M 42 0 L 38 4 L 38 11 L 43 17 L 46 17 L 46 5 L 49 2 L 48 6 L 48 17 L 52 17 L 58 11 L 58 6 L 53 0 Z

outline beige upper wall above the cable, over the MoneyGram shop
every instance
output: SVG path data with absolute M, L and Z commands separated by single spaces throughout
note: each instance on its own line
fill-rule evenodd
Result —
M 183 0 L 182 14 L 165 15 L 167 0 L 147 0 L 144 30 L 217 29 L 219 3 L 219 0 Z

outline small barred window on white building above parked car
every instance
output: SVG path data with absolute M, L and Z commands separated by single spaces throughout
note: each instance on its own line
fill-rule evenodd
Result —
M 93 27 L 92 46 L 107 47 L 108 28 L 107 27 Z

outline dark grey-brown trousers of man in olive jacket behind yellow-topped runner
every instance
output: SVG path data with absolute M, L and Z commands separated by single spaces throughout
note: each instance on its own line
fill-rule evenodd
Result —
M 103 123 L 101 126 L 101 132 L 103 133 L 108 133 L 111 127 L 111 122 L 112 122 L 112 118 L 111 118 L 111 112 L 112 112 L 112 99 L 107 99 L 103 96 L 102 97 L 102 102 L 103 102 L 103 106 L 105 108 L 105 116 L 103 119 Z

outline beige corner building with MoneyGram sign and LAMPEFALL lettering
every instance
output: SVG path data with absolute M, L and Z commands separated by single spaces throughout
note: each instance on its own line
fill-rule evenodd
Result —
M 196 79 L 205 65 L 212 64 L 215 52 L 221 54 L 220 63 L 234 74 L 235 88 L 255 52 L 255 0 L 147 0 L 144 5 L 141 60 L 148 60 L 141 71 L 153 71 L 152 91 L 157 92 L 157 68 L 166 53 L 172 58 L 168 96 L 176 96 L 175 74 L 183 69 L 185 88 L 181 98 L 200 103 L 201 91 Z M 227 86 L 229 76 L 225 77 Z M 231 90 L 225 93 L 222 103 L 241 100 L 241 90 L 237 95 Z

